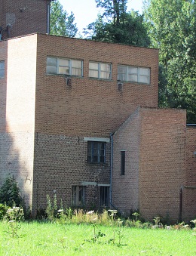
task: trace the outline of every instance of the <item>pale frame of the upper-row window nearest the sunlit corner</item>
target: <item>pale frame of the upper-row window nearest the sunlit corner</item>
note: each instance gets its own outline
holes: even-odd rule
[[[49,75],[62,75],[62,76],[75,76],[72,74],[72,69],[80,69],[81,70],[81,76],[78,77],[82,77],[83,76],[83,60],[75,60],[75,59],[67,59],[67,58],[60,58],[60,57],[47,57],[48,59],[56,59],[57,60],[57,66],[56,66],[56,72],[47,72],[47,65],[46,65],[46,72]],[[64,74],[64,73],[60,73],[59,72],[59,67],[60,67],[60,60],[68,60],[69,64],[68,64],[68,68],[69,68],[69,74]],[[72,66],[72,61],[79,61],[81,62],[81,68],[75,68]]]

